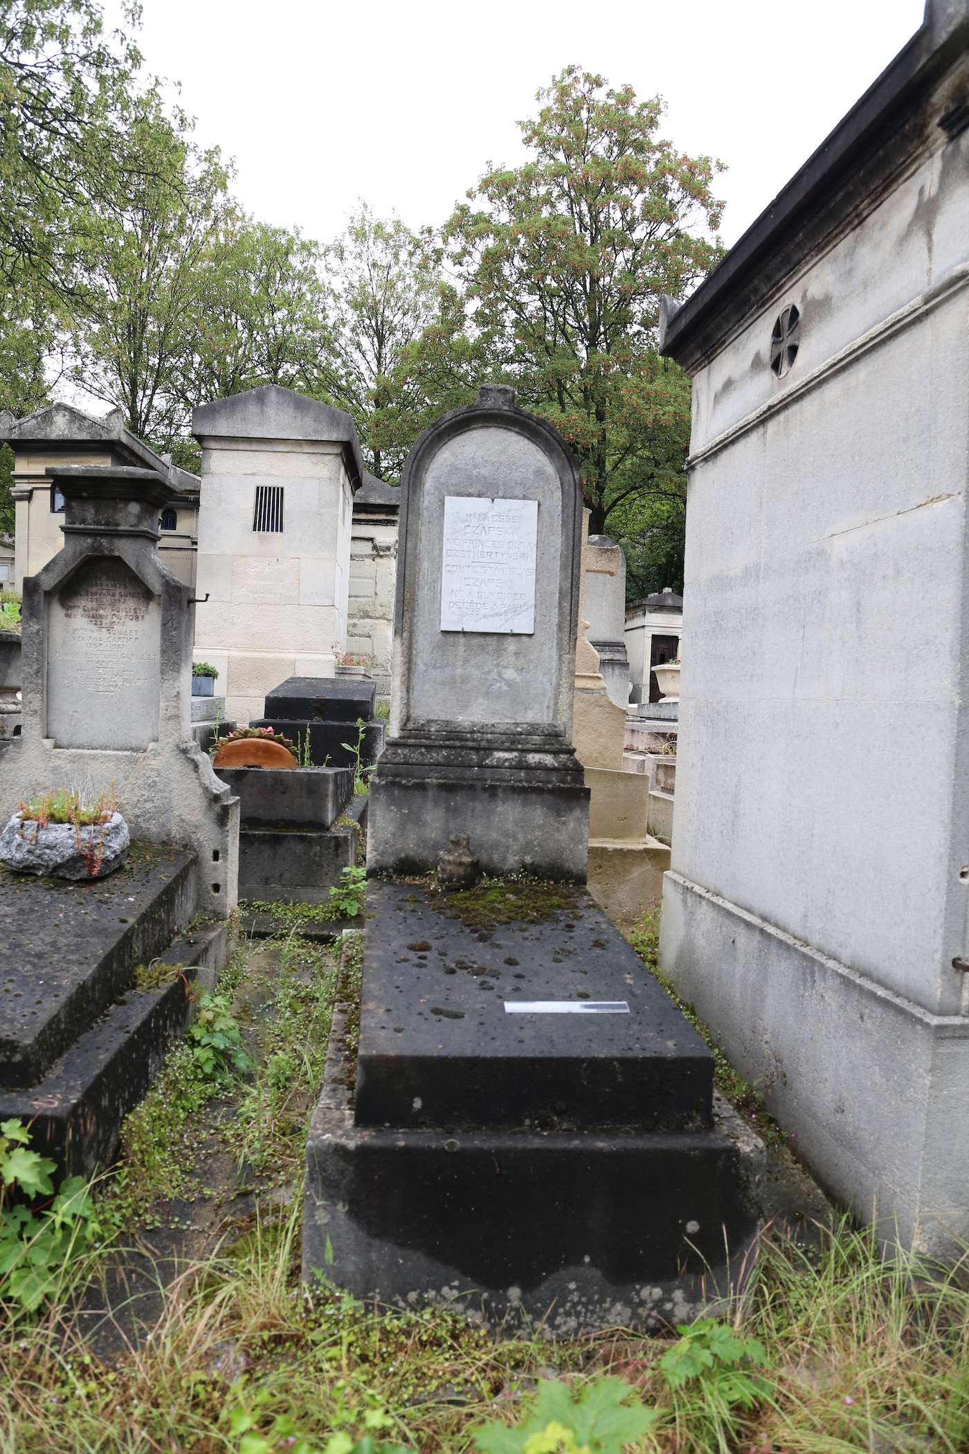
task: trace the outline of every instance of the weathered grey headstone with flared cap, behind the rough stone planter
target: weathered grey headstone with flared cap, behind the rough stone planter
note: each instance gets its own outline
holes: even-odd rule
[[[199,901],[235,904],[238,798],[190,740],[192,587],[158,558],[174,487],[154,470],[60,465],[64,548],[23,582],[23,726],[0,814],[51,787],[113,784],[131,836],[190,848]]]

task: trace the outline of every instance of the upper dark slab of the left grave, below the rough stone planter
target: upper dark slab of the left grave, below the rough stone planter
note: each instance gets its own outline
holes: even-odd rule
[[[41,1080],[195,910],[195,853],[155,843],[92,883],[0,869],[0,1088]]]

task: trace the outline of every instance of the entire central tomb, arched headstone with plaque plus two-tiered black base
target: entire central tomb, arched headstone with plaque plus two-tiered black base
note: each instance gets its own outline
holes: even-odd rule
[[[307,1138],[304,1269],[561,1333],[687,1317],[750,1246],[763,1147],[584,887],[575,461],[492,385],[418,439],[402,494],[394,736],[360,984]],[[433,887],[392,877],[442,849]],[[474,887],[474,859],[504,884]]]

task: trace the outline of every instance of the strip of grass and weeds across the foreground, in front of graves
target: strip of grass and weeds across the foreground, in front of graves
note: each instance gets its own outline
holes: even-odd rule
[[[957,1454],[969,1439],[969,1268],[885,1261],[844,1224],[814,1255],[769,1229],[722,1319],[562,1342],[304,1287],[298,1250],[295,1198],[186,1269],[150,1336],[109,1361],[70,1307],[28,1336],[10,1326],[4,1447],[349,1454],[369,1435],[421,1454]]]

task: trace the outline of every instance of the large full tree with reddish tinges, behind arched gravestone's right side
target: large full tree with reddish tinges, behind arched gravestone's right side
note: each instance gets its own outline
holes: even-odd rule
[[[488,172],[445,241],[479,356],[569,441],[601,534],[625,500],[683,490],[690,390],[657,355],[658,304],[719,256],[719,164],[657,135],[660,97],[575,65],[538,99],[532,158]]]

